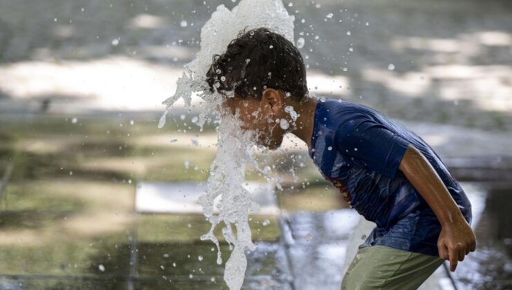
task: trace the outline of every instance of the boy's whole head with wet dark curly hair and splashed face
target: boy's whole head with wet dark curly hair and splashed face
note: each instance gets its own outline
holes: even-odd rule
[[[243,128],[257,133],[258,144],[272,149],[293,128],[286,128],[292,121],[286,106],[298,108],[309,95],[300,52],[267,28],[239,32],[225,53],[213,56],[206,81],[212,93],[234,95],[226,97],[223,106],[239,113]]]

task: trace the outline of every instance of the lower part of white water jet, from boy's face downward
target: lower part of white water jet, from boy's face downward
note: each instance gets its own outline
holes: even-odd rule
[[[212,240],[217,244],[217,264],[221,264],[222,260],[219,242],[213,231],[220,222],[226,224],[222,229],[222,235],[226,238],[232,253],[226,262],[224,280],[230,289],[240,289],[244,282],[247,267],[244,251],[256,249],[251,239],[248,215],[259,211],[258,204],[251,200],[248,191],[242,186],[244,184],[244,165],[254,162],[253,137],[250,132],[240,132],[237,126],[227,126],[227,124],[236,124],[237,122],[237,117],[229,115],[222,117],[217,131],[219,134],[217,157],[210,166],[207,191],[199,197],[199,204],[203,206],[204,215],[212,223],[210,231],[202,235],[201,240]],[[223,140],[229,140],[229,142],[223,142]],[[219,195],[221,195],[221,200],[217,204],[219,215],[213,215],[213,202]],[[231,224],[235,224],[236,238],[233,235]]]

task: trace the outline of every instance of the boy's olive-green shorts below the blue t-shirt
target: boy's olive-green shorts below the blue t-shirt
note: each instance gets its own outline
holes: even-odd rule
[[[443,260],[385,246],[359,249],[341,289],[417,289]]]

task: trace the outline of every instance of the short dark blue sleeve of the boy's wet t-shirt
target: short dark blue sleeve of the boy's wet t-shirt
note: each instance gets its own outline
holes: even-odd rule
[[[354,117],[336,130],[338,150],[368,168],[394,178],[410,142],[367,116]]]

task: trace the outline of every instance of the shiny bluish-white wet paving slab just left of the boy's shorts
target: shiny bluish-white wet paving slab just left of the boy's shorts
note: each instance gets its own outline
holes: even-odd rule
[[[339,289],[349,237],[358,220],[350,209],[304,211],[284,218],[295,289]]]

